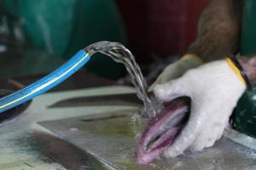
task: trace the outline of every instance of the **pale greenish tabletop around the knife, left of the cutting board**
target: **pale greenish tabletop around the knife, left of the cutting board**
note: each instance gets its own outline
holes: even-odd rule
[[[134,92],[131,88],[87,88],[38,96],[32,105],[15,121],[0,127],[1,170],[62,170],[106,169],[102,163],[67,141],[38,125],[38,122],[67,117],[102,114],[105,111],[123,111],[131,106],[86,106],[49,109],[48,105],[78,96]]]

